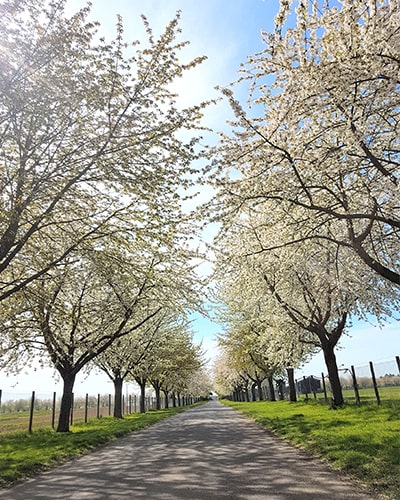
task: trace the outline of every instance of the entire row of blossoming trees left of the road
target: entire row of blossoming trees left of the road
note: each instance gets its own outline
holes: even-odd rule
[[[179,390],[199,368],[193,224],[201,111],[179,108],[179,15],[144,48],[65,0],[0,3],[0,366],[50,362],[69,430],[76,375]],[[119,405],[119,408],[118,408]]]

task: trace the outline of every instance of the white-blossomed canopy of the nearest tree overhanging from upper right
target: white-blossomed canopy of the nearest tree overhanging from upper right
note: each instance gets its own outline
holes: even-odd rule
[[[280,210],[292,228],[285,244],[333,241],[396,285],[398,9],[390,1],[299,2],[296,26],[280,17],[280,29],[263,34],[265,49],[242,67],[251,109],[224,91],[237,129],[220,148],[220,164],[237,173],[226,187],[231,212]]]

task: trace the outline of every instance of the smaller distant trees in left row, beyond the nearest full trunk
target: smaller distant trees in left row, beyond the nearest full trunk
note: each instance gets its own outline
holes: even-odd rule
[[[161,408],[161,393],[168,407],[169,398],[182,394],[207,396],[211,381],[203,367],[201,346],[194,345],[188,325],[165,317],[114,343],[94,360],[114,384],[114,416],[122,417],[124,381],[140,388],[140,411],[145,412],[146,388],[155,393],[156,408]]]

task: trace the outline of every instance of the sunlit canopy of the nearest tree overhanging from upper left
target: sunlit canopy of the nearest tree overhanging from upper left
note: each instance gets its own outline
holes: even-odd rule
[[[65,1],[4,0],[0,12],[4,300],[121,223],[168,234],[197,155],[198,134],[178,132],[201,128],[203,105],[180,109],[171,90],[202,61],[179,62],[179,15],[158,39],[144,19],[140,48],[121,19],[99,38],[89,7],[67,17]]]

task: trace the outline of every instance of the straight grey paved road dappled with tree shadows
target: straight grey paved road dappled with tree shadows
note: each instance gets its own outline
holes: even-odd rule
[[[216,401],[0,491],[9,500],[374,498]]]

